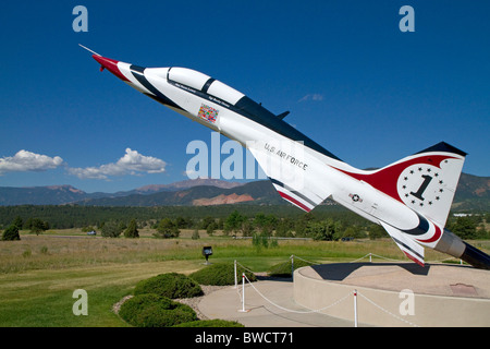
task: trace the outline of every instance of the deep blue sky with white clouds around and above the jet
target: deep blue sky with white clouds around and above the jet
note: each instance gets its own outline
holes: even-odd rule
[[[406,4],[413,33],[399,28]],[[75,5],[87,33],[72,28]],[[0,186],[170,183],[186,179],[191,141],[210,145],[210,130],[100,73],[78,44],[201,71],[290,110],[287,122],[358,168],[445,141],[469,154],[465,172],[490,176],[489,13],[486,0],[4,1]]]

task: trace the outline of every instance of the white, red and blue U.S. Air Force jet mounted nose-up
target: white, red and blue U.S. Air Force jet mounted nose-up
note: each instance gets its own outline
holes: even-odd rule
[[[424,246],[490,269],[490,256],[444,229],[466,153],[441,142],[377,170],[359,170],[241,92],[186,68],[93,58],[131,87],[248,148],[279,194],[309,212],[331,197],[381,225],[424,265]]]

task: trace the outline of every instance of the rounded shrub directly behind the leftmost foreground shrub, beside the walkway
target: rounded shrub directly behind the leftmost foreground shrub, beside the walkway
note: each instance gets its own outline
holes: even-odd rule
[[[203,296],[203,289],[189,277],[177,274],[160,274],[136,284],[134,294],[155,293],[171,299]]]

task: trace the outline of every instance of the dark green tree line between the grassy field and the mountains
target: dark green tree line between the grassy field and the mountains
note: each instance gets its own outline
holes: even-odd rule
[[[37,206],[15,206],[21,212],[29,210]],[[39,209],[40,208],[40,209]],[[75,209],[74,209],[75,208]],[[120,237],[124,234],[126,238],[138,238],[138,229],[151,228],[155,230],[156,238],[177,238],[182,229],[206,230],[209,236],[216,231],[222,231],[225,236],[242,237],[260,237],[262,239],[271,237],[289,237],[289,238],[310,238],[314,240],[340,240],[370,238],[377,239],[388,237],[384,229],[371,224],[370,221],[347,210],[328,210],[319,209],[315,213],[302,213],[295,209],[295,215],[289,214],[287,209],[278,213],[274,209],[267,210],[262,207],[262,212],[249,209],[250,206],[242,206],[240,209],[234,205],[228,205],[226,209],[210,207],[201,210],[199,216],[194,209],[196,207],[58,207],[41,206],[36,212],[37,217],[15,216],[10,222],[2,225],[4,227],[5,240],[15,240],[19,230],[27,229],[30,232],[39,233],[50,228],[56,229],[63,226],[64,217],[60,220],[60,216],[53,215],[57,209],[61,213],[77,210],[81,208],[83,213],[98,213],[95,217],[84,217],[79,220],[83,231],[95,230],[97,227],[102,237]],[[232,210],[230,210],[232,208]],[[266,207],[267,208],[267,207]],[[95,210],[93,210],[95,209]],[[0,208],[1,210],[1,208]],[[112,212],[112,214],[109,214]],[[142,214],[137,216],[137,214]],[[185,216],[184,214],[189,214]],[[192,213],[192,214],[191,214]],[[217,214],[218,213],[218,214]],[[30,212],[29,214],[33,214]],[[130,216],[133,214],[133,216]],[[73,217],[68,215],[69,217]],[[2,217],[2,216],[0,216]],[[41,217],[41,218],[39,218]],[[54,221],[45,220],[46,217],[52,217]],[[57,219],[58,217],[58,219]],[[75,216],[76,217],[76,216]],[[490,232],[486,229],[487,215],[471,215],[463,217],[450,217],[446,227],[463,239],[490,239]],[[70,228],[75,227],[73,224]],[[63,228],[65,228],[63,226]],[[12,238],[13,237],[13,238]]]

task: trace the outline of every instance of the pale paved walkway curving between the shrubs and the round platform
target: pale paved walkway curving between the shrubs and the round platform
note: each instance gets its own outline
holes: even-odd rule
[[[211,292],[203,298],[198,308],[209,318],[236,321],[246,327],[354,326],[354,320],[345,321],[310,312],[296,304],[291,279],[262,279],[253,286],[245,284],[246,312],[242,312],[242,285]]]

